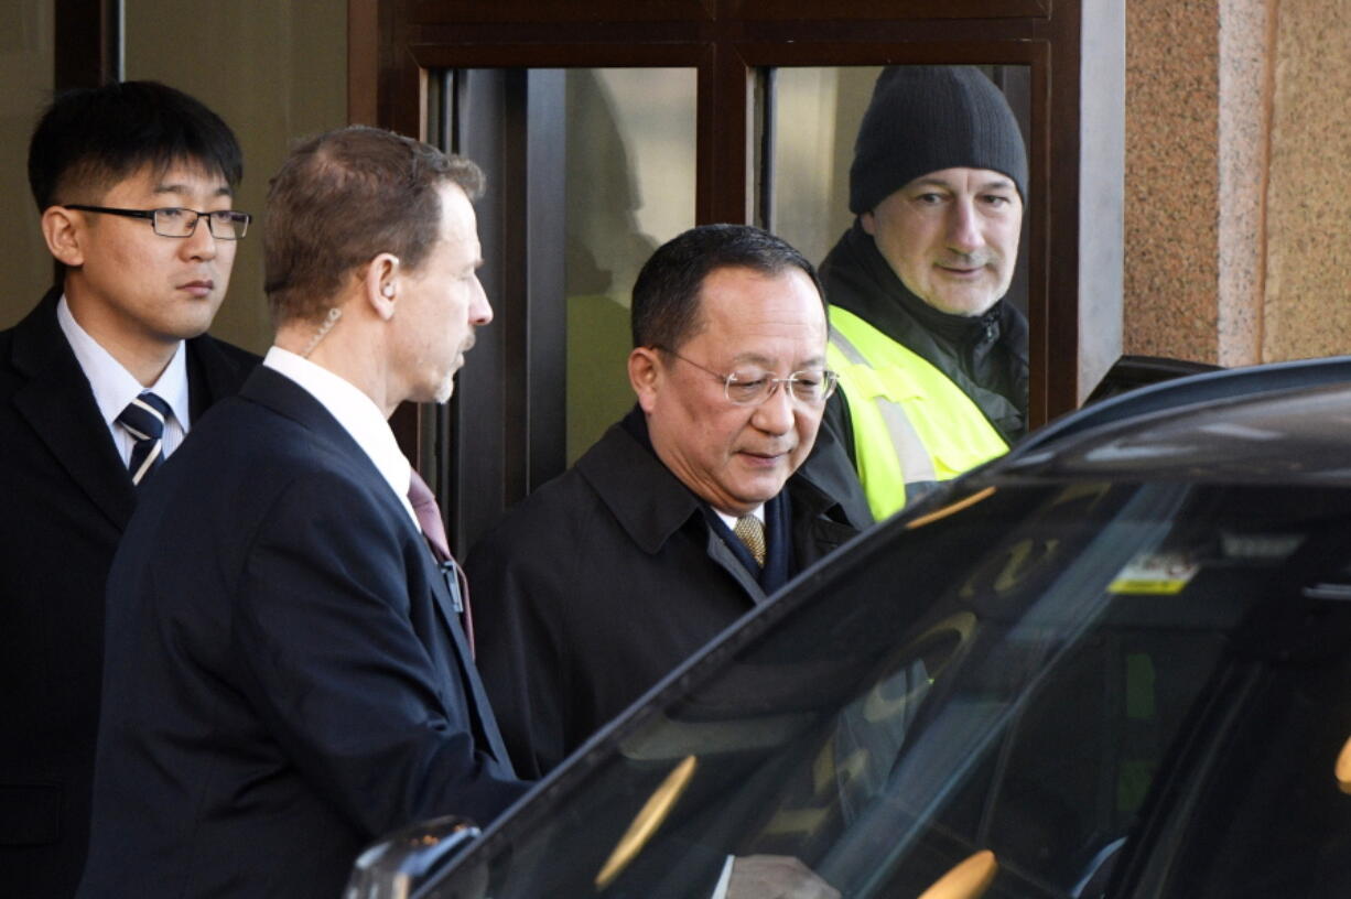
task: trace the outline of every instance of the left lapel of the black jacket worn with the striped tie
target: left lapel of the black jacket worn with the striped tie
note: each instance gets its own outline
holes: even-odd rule
[[[28,382],[14,405],[70,479],[123,529],[136,495],[61,325],[53,290],[14,331],[14,364]]]

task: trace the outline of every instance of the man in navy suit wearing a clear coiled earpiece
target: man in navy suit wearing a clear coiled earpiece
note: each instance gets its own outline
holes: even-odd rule
[[[449,400],[492,319],[481,180],[361,127],[273,178],[276,344],[157,474],[108,579],[82,896],[338,896],[376,837],[524,792],[386,424]]]

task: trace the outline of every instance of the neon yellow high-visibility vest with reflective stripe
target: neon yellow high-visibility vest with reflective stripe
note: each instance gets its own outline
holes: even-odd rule
[[[831,308],[827,364],[854,423],[858,478],[881,521],[939,481],[1008,451],[979,406],[924,358]]]

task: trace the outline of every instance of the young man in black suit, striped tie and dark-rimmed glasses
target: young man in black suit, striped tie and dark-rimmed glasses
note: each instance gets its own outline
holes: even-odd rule
[[[242,171],[226,123],[153,82],[62,94],[32,135],[30,184],[63,277],[0,332],[4,895],[70,896],[80,881],[112,553],[136,485],[257,363],[204,333],[249,224],[231,211]]]

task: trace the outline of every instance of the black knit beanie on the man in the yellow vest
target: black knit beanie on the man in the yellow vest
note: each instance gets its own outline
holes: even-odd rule
[[[848,208],[861,215],[915,178],[990,169],[1027,200],[1027,150],[1013,111],[974,66],[888,66],[854,142]]]

